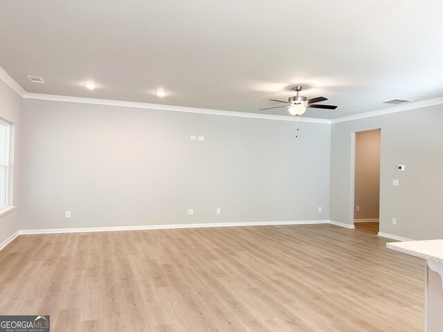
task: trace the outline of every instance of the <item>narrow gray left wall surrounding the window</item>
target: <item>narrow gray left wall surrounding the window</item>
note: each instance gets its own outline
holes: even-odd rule
[[[14,205],[19,205],[20,114],[21,97],[0,80],[0,118],[12,122],[15,129],[13,160],[11,163],[14,176],[12,181],[12,204]],[[8,214],[0,216],[0,244],[17,232],[17,230],[19,230],[19,207]]]

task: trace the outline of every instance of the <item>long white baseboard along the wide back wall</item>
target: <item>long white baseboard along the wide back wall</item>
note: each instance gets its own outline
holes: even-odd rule
[[[53,234],[79,232],[115,232],[122,230],[170,230],[174,228],[210,228],[210,227],[242,227],[242,226],[269,226],[269,225],[309,225],[329,223],[329,220],[307,221],[258,221],[244,223],[176,223],[170,225],[141,225],[118,227],[88,227],[88,228],[54,228],[43,230],[20,230],[20,234]]]

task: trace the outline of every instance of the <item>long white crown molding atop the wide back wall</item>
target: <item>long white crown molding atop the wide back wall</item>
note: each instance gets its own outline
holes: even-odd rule
[[[331,123],[329,119],[316,119],[316,118],[295,118],[291,116],[274,116],[272,114],[259,114],[259,113],[248,113],[248,112],[237,112],[237,111],[223,111],[219,109],[200,109],[197,107],[185,107],[185,106],[174,106],[174,105],[164,105],[164,104],[149,104],[146,102],[127,102],[124,100],[109,100],[109,99],[98,99],[98,98],[84,98],[84,97],[71,97],[68,95],[47,95],[44,93],[25,93],[24,97],[26,99],[34,100],[50,100],[53,102],[75,102],[80,104],[96,104],[96,105],[107,105],[107,106],[118,106],[118,107],[134,107],[138,109],[156,109],[161,111],[176,111],[185,113],[199,113],[199,114],[210,114],[213,116],[235,116],[237,118],[254,118],[254,119],[264,119],[264,120],[280,120],[280,121],[298,121],[298,122],[316,122],[316,123]]]

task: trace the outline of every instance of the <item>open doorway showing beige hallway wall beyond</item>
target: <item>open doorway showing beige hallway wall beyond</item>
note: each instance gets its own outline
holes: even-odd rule
[[[354,227],[377,234],[380,217],[381,129],[355,133]]]

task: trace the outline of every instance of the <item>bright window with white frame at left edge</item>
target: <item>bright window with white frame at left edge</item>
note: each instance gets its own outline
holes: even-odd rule
[[[8,205],[10,124],[0,120],[0,208]]]

